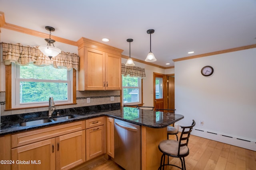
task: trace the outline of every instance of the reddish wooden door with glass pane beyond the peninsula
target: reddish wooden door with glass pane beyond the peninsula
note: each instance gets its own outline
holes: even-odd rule
[[[155,109],[164,108],[164,89],[165,89],[165,76],[164,74],[153,73],[154,85],[154,107]]]

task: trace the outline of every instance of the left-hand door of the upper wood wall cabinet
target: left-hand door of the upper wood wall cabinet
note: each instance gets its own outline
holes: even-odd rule
[[[105,52],[84,49],[85,90],[105,90]]]

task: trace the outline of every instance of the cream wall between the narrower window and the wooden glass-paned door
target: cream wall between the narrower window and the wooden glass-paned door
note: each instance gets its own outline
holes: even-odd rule
[[[127,59],[122,58],[122,63],[126,63]],[[174,69],[162,69],[144,63],[134,62],[135,66],[145,68],[146,78],[143,78],[143,106],[154,106],[153,96],[153,72],[160,74],[174,74]]]

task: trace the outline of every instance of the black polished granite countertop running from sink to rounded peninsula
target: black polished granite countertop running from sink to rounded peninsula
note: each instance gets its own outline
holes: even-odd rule
[[[38,119],[54,119],[55,117],[62,117],[65,115],[73,115],[74,118],[61,120],[61,121],[51,121],[48,123],[43,123],[40,125],[31,125],[31,126],[20,126],[20,123],[24,121],[32,121]],[[60,125],[63,123],[69,123],[74,121],[81,121],[85,119],[91,119],[94,117],[100,116],[109,116],[115,119],[120,119],[137,125],[142,125],[151,128],[164,128],[168,125],[183,119],[184,116],[174,113],[163,113],[162,111],[152,111],[146,109],[137,109],[133,107],[119,107],[112,109],[99,109],[98,111],[65,111],[60,113],[60,116],[53,115],[48,117],[47,115],[42,114],[37,117],[38,114],[29,114],[23,115],[23,119],[19,119],[17,116],[14,121],[5,121],[0,127],[0,136],[18,133],[23,131],[28,131],[32,129],[39,129],[42,127],[50,127],[52,125]],[[5,117],[6,119],[6,117]]]

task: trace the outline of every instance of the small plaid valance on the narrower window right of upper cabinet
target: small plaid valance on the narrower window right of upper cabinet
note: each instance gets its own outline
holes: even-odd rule
[[[131,77],[146,77],[145,69],[137,66],[126,66],[122,63],[122,75]]]

